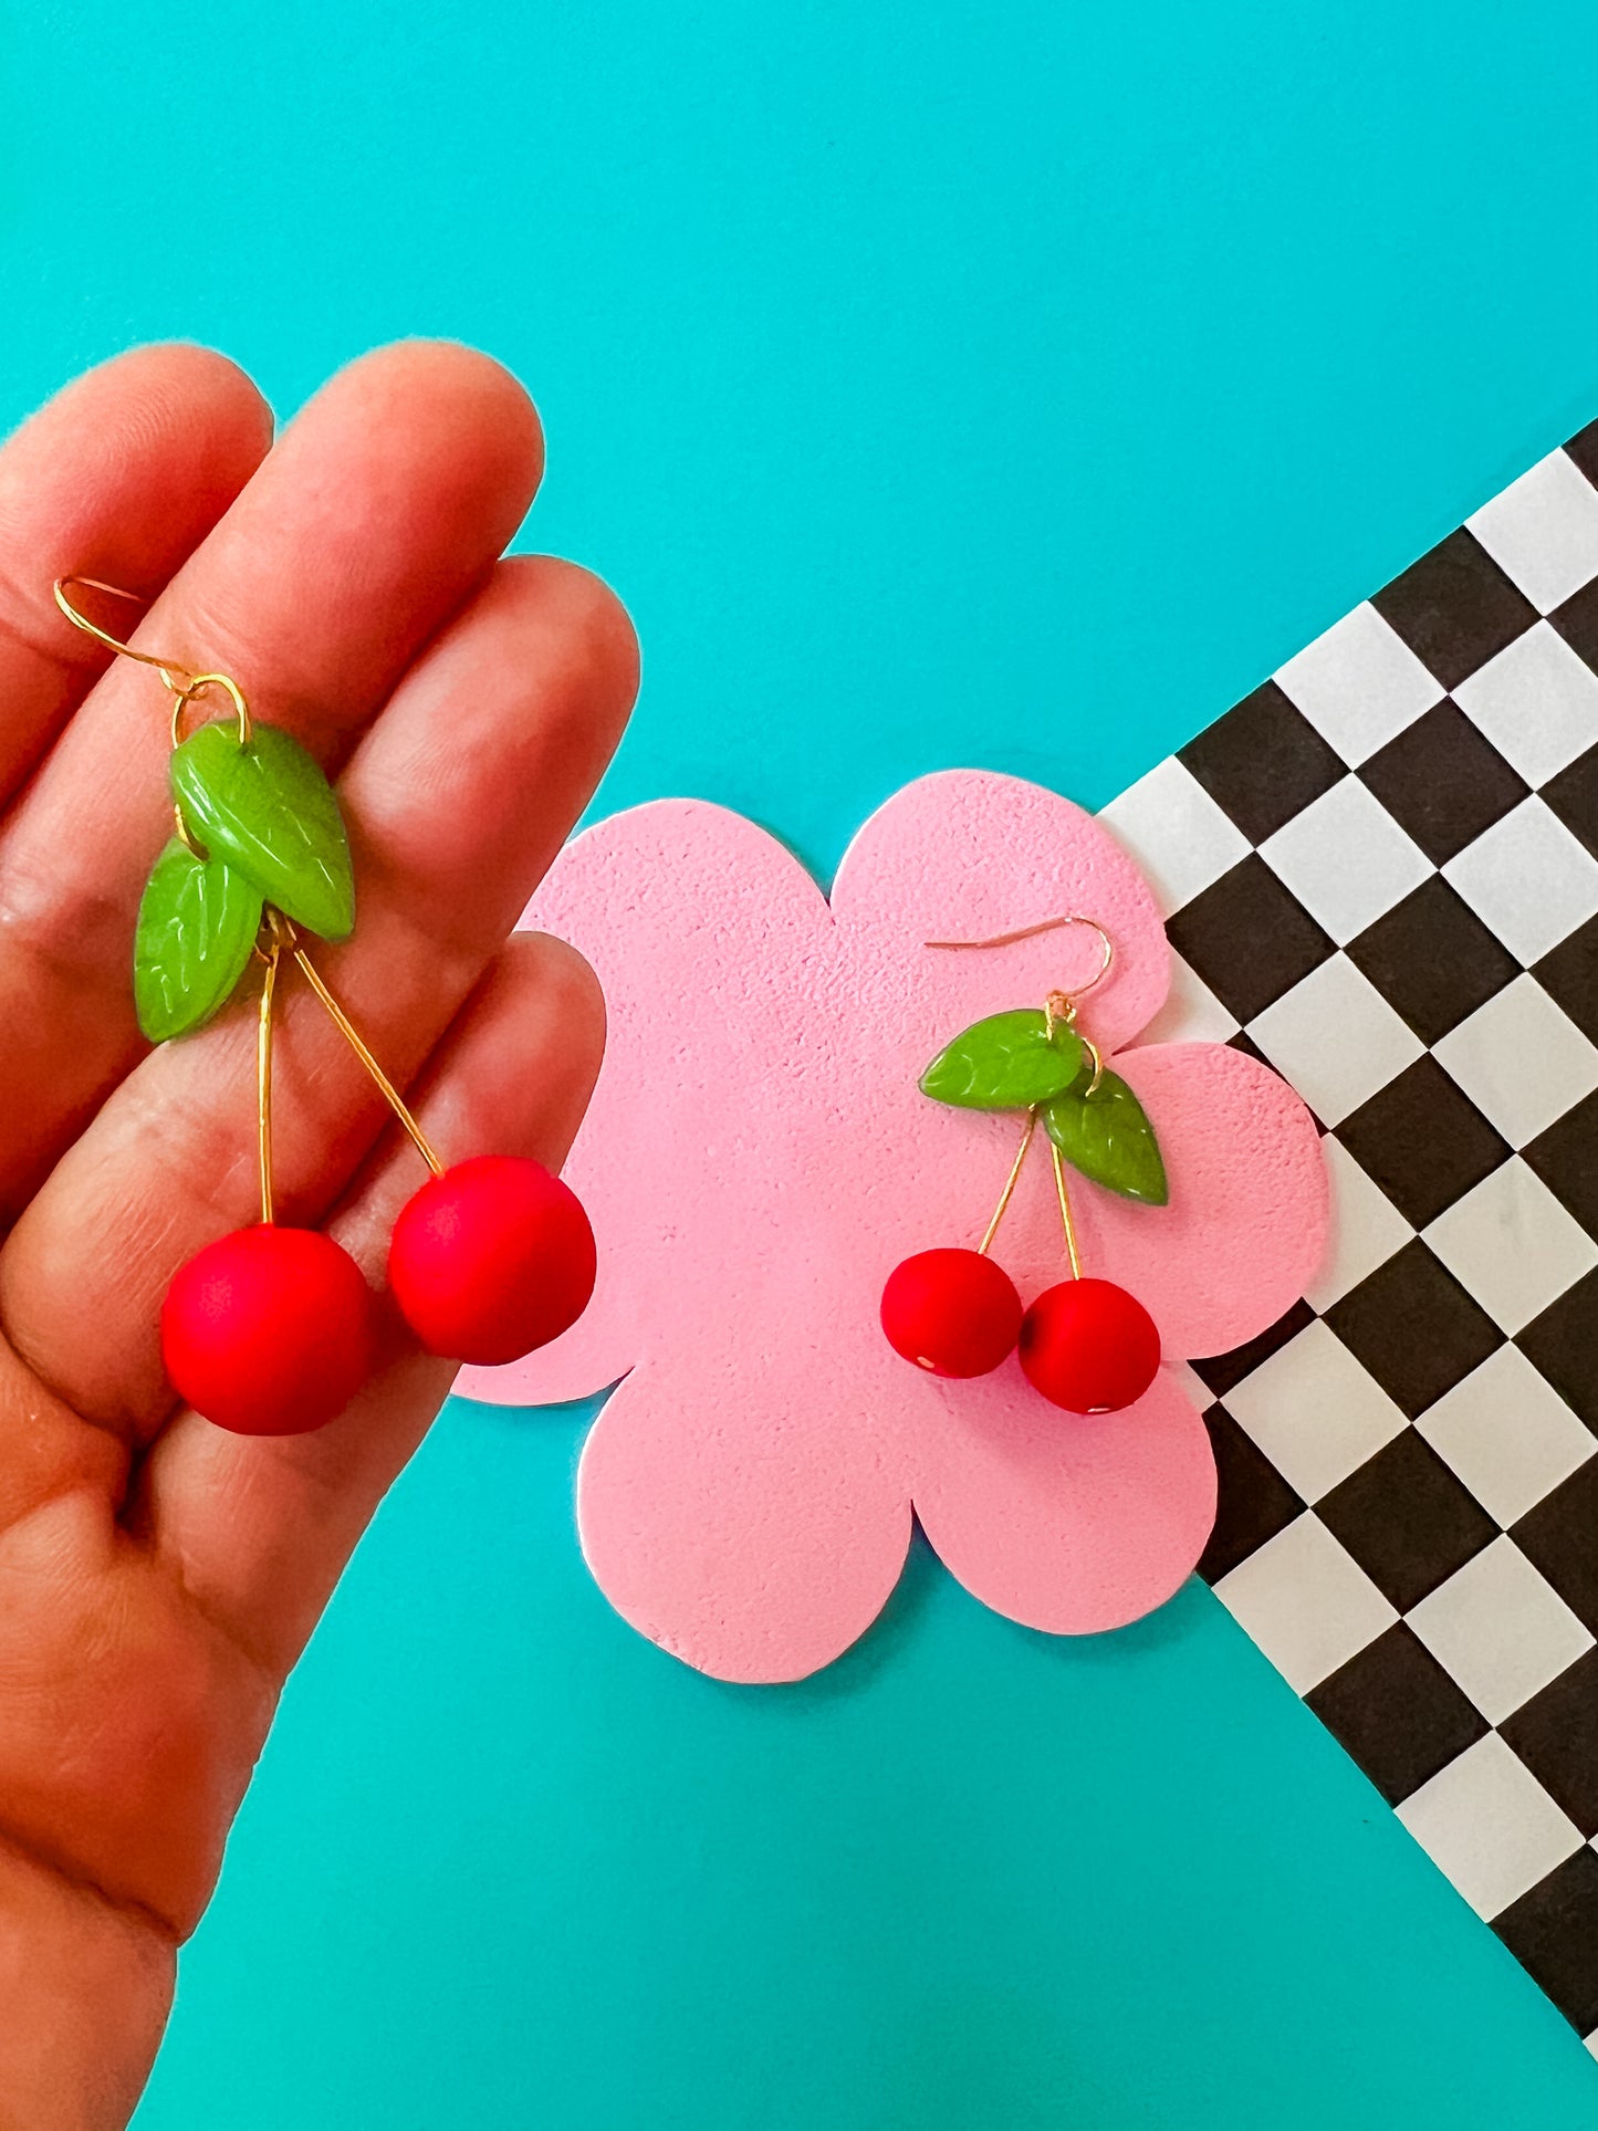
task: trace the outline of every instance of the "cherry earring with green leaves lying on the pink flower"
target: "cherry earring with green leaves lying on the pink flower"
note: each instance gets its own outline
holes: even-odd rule
[[[933,1377],[986,1377],[1012,1351],[1033,1389],[1067,1413],[1131,1406],[1159,1370],[1159,1330],[1136,1296],[1082,1272],[1065,1168],[1144,1206],[1170,1200],[1155,1127],[1127,1083],[1106,1070],[1076,1027],[1080,999],[1114,961],[1095,918],[1067,914],[993,940],[929,940],[933,948],[989,948],[1061,925],[1099,936],[1099,967],[1076,993],[1050,991],[1042,1008],[989,1014],[946,1044],[920,1091],[959,1110],[1025,1110],[1021,1149],[982,1242],[918,1251],[882,1289],[882,1330],[895,1353]],[[1016,1283],[989,1255],[1014,1195],[1038,1123],[1048,1136],[1070,1279],[1023,1308]]]

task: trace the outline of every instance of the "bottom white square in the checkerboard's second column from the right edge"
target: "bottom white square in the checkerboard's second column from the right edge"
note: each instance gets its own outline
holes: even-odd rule
[[[1229,1568],[1214,1596],[1298,1694],[1308,1694],[1398,1620],[1315,1511]]]

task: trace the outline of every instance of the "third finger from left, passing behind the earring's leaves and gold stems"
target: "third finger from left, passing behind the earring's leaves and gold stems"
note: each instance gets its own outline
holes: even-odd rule
[[[582,812],[635,680],[631,627],[594,578],[503,563],[349,765],[360,912],[349,944],[317,948],[315,963],[398,1085]],[[317,1221],[388,1112],[296,972],[279,995],[277,1213]],[[166,1285],[254,1219],[256,1019],[237,1002],[147,1057],[55,1166],[0,1251],[0,1325],[60,1398],[143,1441],[173,1396],[158,1338]]]

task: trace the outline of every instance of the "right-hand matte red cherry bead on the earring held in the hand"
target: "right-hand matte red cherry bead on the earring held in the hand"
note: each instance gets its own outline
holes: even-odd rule
[[[588,1308],[594,1232],[541,1161],[475,1155],[405,1204],[388,1285],[428,1353],[479,1368],[518,1362]]]

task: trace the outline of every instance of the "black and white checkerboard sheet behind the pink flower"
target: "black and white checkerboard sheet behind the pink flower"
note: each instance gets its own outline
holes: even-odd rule
[[[1598,424],[1104,818],[1334,1183],[1200,1571],[1598,2054]]]

